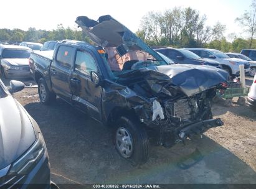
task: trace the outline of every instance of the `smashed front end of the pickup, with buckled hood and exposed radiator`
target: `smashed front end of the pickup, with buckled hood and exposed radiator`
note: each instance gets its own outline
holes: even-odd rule
[[[161,73],[164,68],[167,69],[165,66],[158,67],[158,71],[141,69],[120,76],[125,78],[120,81],[123,85],[148,99],[133,109],[149,131],[153,131],[157,144],[171,147],[194,134],[223,125],[220,119],[212,119],[211,112],[216,88],[222,88],[221,83],[226,81],[222,71],[208,70],[211,73],[206,71],[202,75],[203,71],[196,68],[175,71],[174,67],[168,76],[167,72]],[[201,76],[204,80],[200,80]]]

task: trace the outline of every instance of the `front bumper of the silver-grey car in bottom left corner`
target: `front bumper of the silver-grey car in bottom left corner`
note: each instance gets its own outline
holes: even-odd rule
[[[10,178],[4,176],[1,178],[0,186],[3,188],[50,188],[50,165],[47,152],[44,153],[37,165],[27,175],[16,175],[11,181],[4,180],[4,178]],[[4,184],[6,183],[6,184]],[[1,188],[0,187],[0,188]]]

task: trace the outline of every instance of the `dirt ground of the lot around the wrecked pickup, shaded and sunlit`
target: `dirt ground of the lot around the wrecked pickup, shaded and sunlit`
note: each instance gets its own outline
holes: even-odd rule
[[[44,134],[56,183],[256,183],[256,113],[247,105],[215,104],[224,126],[171,149],[152,147],[147,164],[135,168],[118,156],[107,127],[61,99],[45,106],[36,88],[14,96]],[[197,163],[180,166],[191,159]]]

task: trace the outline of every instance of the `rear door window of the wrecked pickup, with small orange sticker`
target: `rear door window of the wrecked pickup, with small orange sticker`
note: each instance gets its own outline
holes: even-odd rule
[[[62,45],[59,47],[56,60],[57,62],[67,68],[72,65],[73,47]]]

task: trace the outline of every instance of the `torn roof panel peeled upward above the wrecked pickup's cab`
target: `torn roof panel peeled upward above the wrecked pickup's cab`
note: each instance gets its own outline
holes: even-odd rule
[[[143,40],[110,15],[100,16],[98,21],[86,16],[78,16],[75,22],[95,44],[102,47],[116,47],[120,56],[125,55],[129,50],[143,50],[156,58],[159,57],[158,53],[148,47]]]

